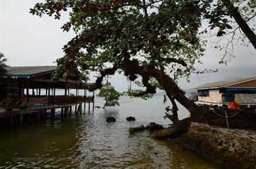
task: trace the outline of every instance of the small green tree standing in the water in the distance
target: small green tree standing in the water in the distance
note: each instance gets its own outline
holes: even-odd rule
[[[114,90],[114,87],[111,86],[110,82],[107,82],[102,86],[98,96],[105,100],[103,108],[105,108],[105,106],[120,106],[118,101],[122,94]]]

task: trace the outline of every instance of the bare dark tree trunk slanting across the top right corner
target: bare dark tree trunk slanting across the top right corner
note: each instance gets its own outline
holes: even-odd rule
[[[230,0],[221,0],[223,4],[227,7],[230,15],[236,20],[238,26],[242,29],[242,32],[249,38],[251,44],[253,44],[254,48],[256,49],[256,35],[248,26],[247,22],[244,21],[242,16],[240,15],[238,9],[234,7]]]

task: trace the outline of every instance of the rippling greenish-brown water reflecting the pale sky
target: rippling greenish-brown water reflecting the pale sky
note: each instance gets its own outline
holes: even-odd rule
[[[129,135],[129,127],[151,121],[168,125],[163,120],[165,106],[159,97],[123,100],[120,108],[57,115],[41,124],[2,130],[0,168],[219,168],[168,140],[151,139],[147,132]],[[106,123],[107,116],[114,116],[116,123]],[[127,122],[127,116],[136,121]]]

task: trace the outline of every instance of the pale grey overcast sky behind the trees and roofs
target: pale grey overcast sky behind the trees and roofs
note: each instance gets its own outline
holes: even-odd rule
[[[56,65],[62,57],[62,46],[73,36],[73,32],[62,32],[60,27],[68,20],[68,13],[61,20],[47,15],[39,18],[28,13],[38,0],[0,0],[0,53],[7,57],[10,66]],[[192,75],[190,83],[179,81],[184,89],[194,88],[214,81],[256,76],[256,53],[253,46],[235,45],[234,55],[228,66],[219,65],[221,53],[209,45],[202,58],[200,69],[216,69],[217,73]],[[115,75],[112,83],[119,91],[127,89],[126,77]]]

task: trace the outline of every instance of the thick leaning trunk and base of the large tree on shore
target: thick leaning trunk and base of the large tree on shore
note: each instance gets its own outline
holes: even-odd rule
[[[163,86],[167,96],[173,104],[173,115],[170,116],[167,114],[167,117],[173,121],[173,125],[167,129],[154,133],[151,137],[154,139],[168,139],[186,133],[190,128],[190,121],[199,121],[199,116],[202,113],[202,109],[198,105],[194,104],[194,102],[189,100],[185,96],[185,92],[181,90],[175,81],[173,81],[169,75],[165,74],[164,71],[152,69],[151,75],[155,77],[159,83],[161,83],[161,86]],[[178,108],[175,100],[177,100],[177,102],[182,104],[182,106],[184,106],[190,112],[189,118],[179,121],[177,115]]]

